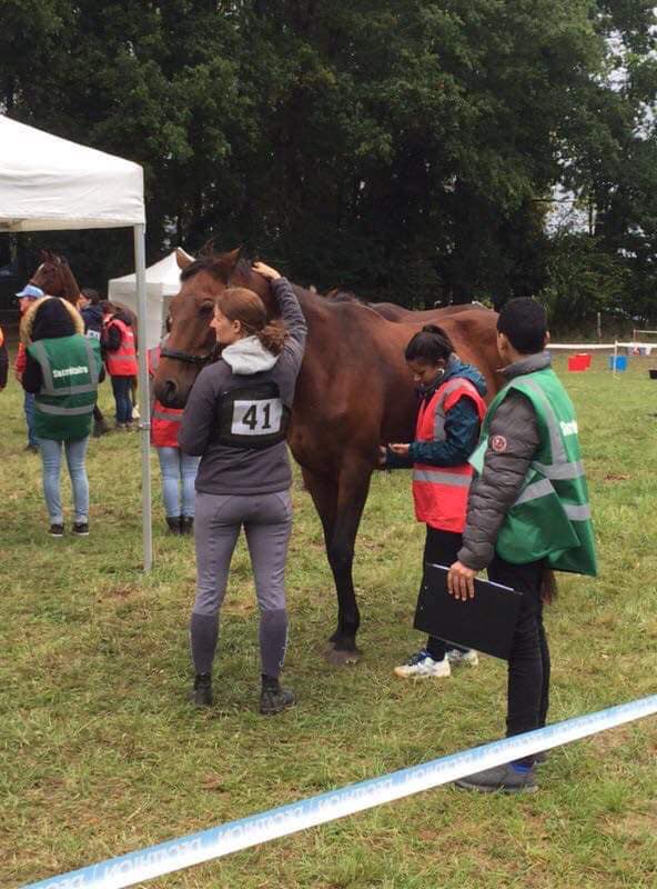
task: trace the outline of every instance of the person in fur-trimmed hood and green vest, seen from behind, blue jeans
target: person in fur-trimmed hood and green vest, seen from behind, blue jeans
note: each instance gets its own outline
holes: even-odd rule
[[[43,493],[51,537],[64,533],[60,496],[62,449],[73,490],[73,533],[89,533],[89,480],[84,466],[99,381],[100,342],[83,336],[84,322],[63,299],[44,297],[26,313],[21,340],[26,392],[34,394],[34,433],[43,466]]]

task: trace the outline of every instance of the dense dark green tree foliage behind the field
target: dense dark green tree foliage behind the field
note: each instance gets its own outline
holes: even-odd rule
[[[143,163],[152,259],[215,237],[407,304],[649,309],[650,2],[4,0],[2,19],[0,102]],[[557,183],[583,229],[546,224]],[[82,277],[130,266],[117,233],[65,237]]]

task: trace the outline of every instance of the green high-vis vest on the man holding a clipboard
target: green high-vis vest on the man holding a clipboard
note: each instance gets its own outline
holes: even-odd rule
[[[595,577],[596,549],[577,420],[570,399],[552,369],[517,377],[497,393],[484,418],[482,438],[471,463],[482,472],[491,420],[513,390],[532,402],[540,444],[502,525],[495,549],[514,565],[547,559],[557,571]]]

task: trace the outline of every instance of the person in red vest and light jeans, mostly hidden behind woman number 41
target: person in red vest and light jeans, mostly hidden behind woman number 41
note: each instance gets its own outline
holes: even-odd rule
[[[166,329],[169,330],[169,323]],[[160,363],[160,346],[148,351],[149,376],[155,376]],[[165,408],[154,393],[151,396],[151,444],[158,451],[162,473],[162,500],[166,525],[172,535],[194,531],[195,481],[200,457],[183,453],[178,433],[184,410]]]

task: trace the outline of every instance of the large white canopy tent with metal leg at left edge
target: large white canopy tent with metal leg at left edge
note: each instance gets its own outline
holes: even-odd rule
[[[143,170],[131,161],[0,116],[0,232],[131,227],[134,231],[137,306],[146,328]],[[148,391],[145,349],[139,384]],[[143,562],[153,561],[149,399],[142,399]]]

